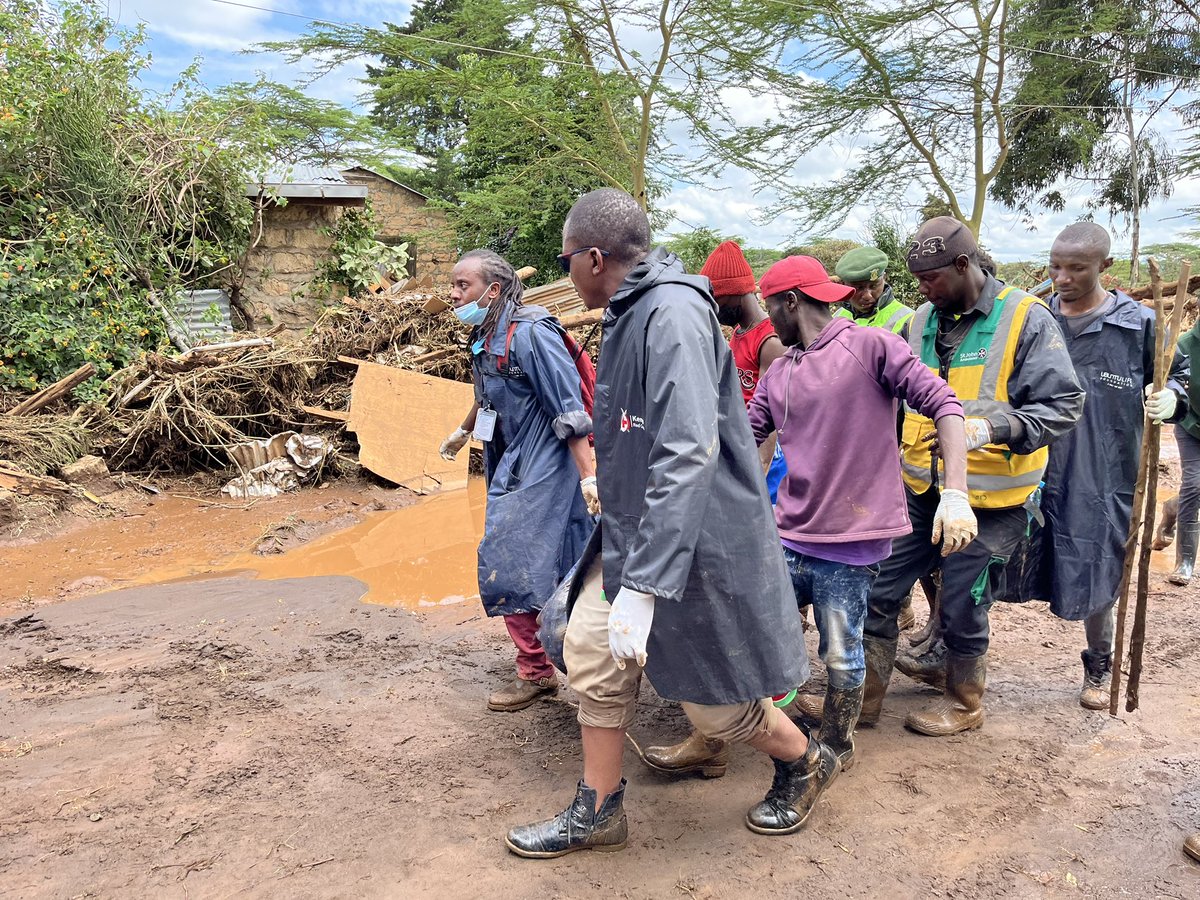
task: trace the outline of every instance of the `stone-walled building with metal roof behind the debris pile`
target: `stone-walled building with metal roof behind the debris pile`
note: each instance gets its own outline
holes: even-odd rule
[[[409,275],[431,276],[449,287],[457,250],[445,212],[428,209],[428,198],[370,169],[296,167],[287,178],[248,185],[252,198],[265,200],[262,235],[246,254],[244,278],[232,299],[253,330],[282,325],[286,335],[307,330],[329,302],[312,287],[332,246],[330,230],[347,210],[362,208],[370,198],[376,212],[377,238],[385,244],[409,245]]]

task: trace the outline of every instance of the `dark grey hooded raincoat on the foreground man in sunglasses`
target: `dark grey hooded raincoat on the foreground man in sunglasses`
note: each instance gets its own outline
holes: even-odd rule
[[[737,367],[707,278],[655,250],[604,319],[596,373],[604,586],[653,594],[646,672],[707,706],[809,677]]]

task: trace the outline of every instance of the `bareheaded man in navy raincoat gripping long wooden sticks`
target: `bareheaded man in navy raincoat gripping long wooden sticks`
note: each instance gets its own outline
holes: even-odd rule
[[[1103,288],[1100,274],[1110,265],[1108,232],[1094,222],[1068,226],[1050,251],[1056,290],[1050,311],[1062,328],[1087,402],[1075,430],[1050,445],[1039,581],[1055,616],[1084,620],[1087,649],[1081,654],[1079,702],[1087,709],[1109,707],[1112,606],[1145,415],[1160,425],[1187,410],[1183,388],[1175,380],[1186,373],[1182,356],[1176,356],[1166,388],[1151,394],[1154,313],[1127,294]]]

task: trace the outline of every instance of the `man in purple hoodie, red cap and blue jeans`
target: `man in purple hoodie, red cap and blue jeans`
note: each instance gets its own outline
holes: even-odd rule
[[[942,554],[978,530],[966,486],[962,406],[898,335],[834,318],[851,292],[812,257],[787,257],[762,276],[760,292],[787,347],[750,403],[762,443],[776,432],[787,462],[775,524],[796,599],[812,604],[829,672],[818,739],[848,768],[863,706],[863,623],[878,563],[892,539],[912,532],[895,444],[898,401],[934,420],[946,487],[934,523]],[[850,452],[847,452],[850,451]]]

